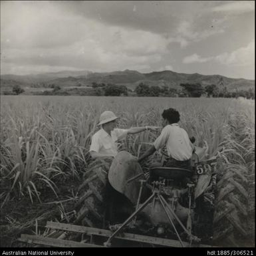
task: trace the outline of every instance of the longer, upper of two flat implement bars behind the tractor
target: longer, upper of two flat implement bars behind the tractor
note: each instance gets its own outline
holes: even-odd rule
[[[47,221],[47,227],[51,229],[61,229],[70,232],[78,232],[78,233],[85,233],[85,234],[92,234],[92,235],[100,235],[102,237],[110,237],[112,232],[106,229],[98,229],[95,227],[84,227],[80,225],[72,225],[72,224],[65,224],[59,222],[52,222]],[[165,239],[160,237],[150,237],[147,235],[136,235],[132,233],[122,233],[121,236],[116,235],[115,239],[123,239],[127,241],[136,241],[140,243],[150,243],[154,245],[162,245],[166,247],[181,247],[180,242],[173,239]],[[189,243],[183,241],[184,245],[187,247]],[[211,247],[210,245],[198,245],[199,247]]]

